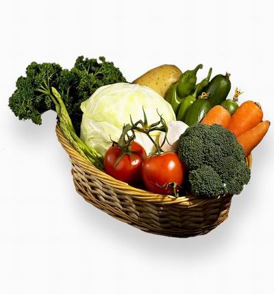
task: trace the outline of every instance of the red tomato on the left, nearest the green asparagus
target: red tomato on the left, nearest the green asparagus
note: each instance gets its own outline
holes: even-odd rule
[[[137,142],[132,142],[131,151],[132,155],[125,154],[115,165],[123,150],[114,144],[108,148],[103,161],[107,174],[130,185],[142,181],[142,162],[147,157],[145,149]]]

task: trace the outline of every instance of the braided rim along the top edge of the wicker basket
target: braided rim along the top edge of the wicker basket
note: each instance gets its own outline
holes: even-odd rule
[[[66,151],[66,153],[71,157],[71,159],[74,159],[75,161],[81,163],[86,170],[92,173],[92,175],[99,178],[99,180],[103,181],[104,183],[107,183],[111,187],[114,187],[117,191],[120,193],[125,193],[127,195],[132,196],[133,198],[136,198],[136,200],[142,200],[145,202],[157,202],[158,204],[178,204],[186,207],[194,207],[201,205],[205,202],[216,202],[216,200],[219,200],[223,197],[232,197],[231,195],[227,194],[225,196],[219,196],[216,198],[197,198],[196,196],[192,196],[191,194],[187,194],[186,196],[180,196],[175,197],[172,195],[161,195],[161,194],[155,194],[149,191],[146,191],[144,189],[132,187],[128,185],[125,182],[116,180],[116,178],[113,178],[112,176],[106,174],[105,172],[99,170],[95,167],[95,165],[92,165],[87,159],[82,157],[82,155],[77,152],[73,146],[71,146],[71,143],[68,142],[66,137],[64,137],[64,134],[60,128],[59,122],[57,122],[55,127],[55,133],[58,137],[58,141]],[[249,165],[249,168],[251,168],[252,165],[252,155],[250,154],[248,157],[246,157],[247,165]]]

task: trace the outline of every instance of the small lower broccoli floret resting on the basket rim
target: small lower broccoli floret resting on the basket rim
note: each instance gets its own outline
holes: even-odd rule
[[[190,191],[197,197],[222,196],[225,185],[219,174],[210,165],[201,165],[189,173]]]

